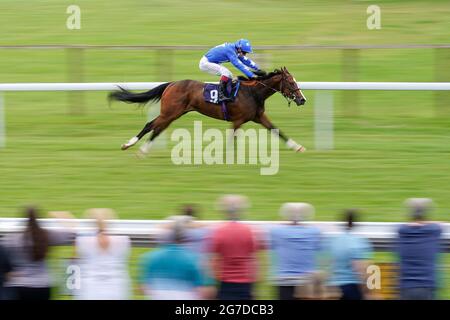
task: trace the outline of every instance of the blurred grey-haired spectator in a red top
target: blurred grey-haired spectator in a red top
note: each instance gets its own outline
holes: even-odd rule
[[[261,249],[257,235],[238,218],[247,207],[247,199],[228,195],[220,199],[221,210],[229,221],[218,226],[211,235],[212,268],[219,282],[219,300],[250,300],[256,281],[257,257]]]

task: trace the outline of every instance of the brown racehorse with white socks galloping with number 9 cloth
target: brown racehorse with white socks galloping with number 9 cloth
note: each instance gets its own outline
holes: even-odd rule
[[[217,105],[205,101],[203,97],[204,83],[195,80],[181,80],[167,82],[149,91],[132,93],[120,88],[109,94],[110,100],[127,103],[145,104],[149,101],[161,100],[160,115],[146,123],[144,128],[135,137],[122,145],[126,150],[135,145],[142,137],[152,131],[150,139],[140,148],[142,154],[149,152],[153,140],[164,131],[173,121],[191,111],[197,111],[208,117],[230,121],[236,131],[244,123],[253,121],[265,128],[277,129],[265,114],[264,103],[274,93],[281,93],[288,103],[294,101],[297,106],[304,105],[306,98],[297,85],[296,80],[289,71],[283,67],[275,69],[267,75],[247,79],[240,76],[240,88],[234,101],[230,101],[223,110]],[[297,152],[306,149],[294,140],[289,139],[279,130],[272,130],[286,142],[288,148]]]

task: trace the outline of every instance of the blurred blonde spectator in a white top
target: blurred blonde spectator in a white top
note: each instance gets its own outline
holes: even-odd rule
[[[95,235],[78,236],[75,241],[81,285],[76,291],[80,300],[127,300],[131,298],[128,263],[131,242],[128,236],[107,232],[107,220],[115,218],[111,209],[89,209],[87,216],[95,219]]]

